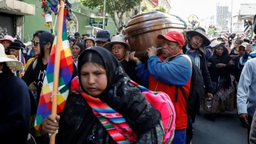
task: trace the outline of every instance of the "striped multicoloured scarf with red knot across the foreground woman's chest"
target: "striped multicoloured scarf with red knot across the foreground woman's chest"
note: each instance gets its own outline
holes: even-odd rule
[[[71,82],[71,92],[81,94],[89,106],[92,108],[94,115],[98,118],[100,123],[106,128],[108,134],[118,144],[136,143],[138,136],[127,124],[126,120],[121,114],[110,108],[107,104],[98,98],[94,98],[82,91],[78,77]]]

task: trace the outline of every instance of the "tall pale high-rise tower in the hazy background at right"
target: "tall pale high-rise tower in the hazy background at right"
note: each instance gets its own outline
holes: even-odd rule
[[[228,30],[228,6],[216,4],[216,26],[218,30]]]

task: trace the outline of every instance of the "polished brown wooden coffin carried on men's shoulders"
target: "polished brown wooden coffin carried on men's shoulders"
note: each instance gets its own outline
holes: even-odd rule
[[[161,53],[162,40],[158,34],[166,34],[170,30],[185,33],[187,28],[175,16],[159,11],[146,12],[133,16],[126,24],[124,35],[128,39],[131,51],[136,51],[136,57],[146,56],[146,49],[154,46]]]

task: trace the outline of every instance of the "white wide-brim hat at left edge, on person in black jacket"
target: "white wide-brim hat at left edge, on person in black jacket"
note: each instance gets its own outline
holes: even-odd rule
[[[2,44],[0,44],[0,62],[6,62],[6,65],[11,70],[21,70],[23,68],[23,64],[18,61],[14,55],[5,54]]]

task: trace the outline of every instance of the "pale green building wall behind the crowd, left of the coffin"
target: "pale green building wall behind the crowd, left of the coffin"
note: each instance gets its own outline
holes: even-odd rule
[[[9,0],[7,0],[9,1]],[[24,24],[23,24],[23,41],[28,42],[32,40],[34,32],[37,30],[46,30],[50,32],[50,28],[45,26],[45,18],[42,16],[42,3],[40,0],[24,0],[30,5],[34,5],[34,15],[33,16],[25,16]],[[74,35],[75,32],[79,32],[80,34],[92,34],[92,29],[86,28],[85,26],[90,26],[90,18],[95,16],[101,16],[102,14],[100,11],[95,8],[91,10],[82,6],[79,0],[71,0],[72,3],[72,13],[74,14],[74,20],[71,22],[67,21],[67,29],[70,35]],[[116,34],[118,31],[114,22],[111,18],[107,17],[108,24],[105,27],[106,30],[110,31],[110,34]],[[52,13],[52,20],[53,24],[56,20],[56,16]],[[97,25],[97,27],[101,27]],[[57,32],[57,26],[54,28],[54,31]]]

